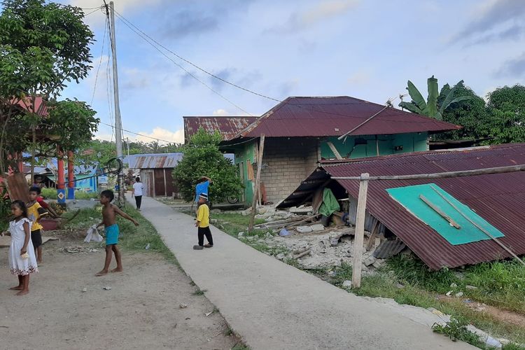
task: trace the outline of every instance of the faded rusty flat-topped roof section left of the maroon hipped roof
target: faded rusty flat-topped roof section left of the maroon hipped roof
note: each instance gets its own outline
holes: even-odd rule
[[[184,120],[184,140],[187,142],[190,137],[203,127],[207,132],[218,130],[223,134],[224,140],[228,141],[245,127],[255,122],[258,117],[183,117]]]

